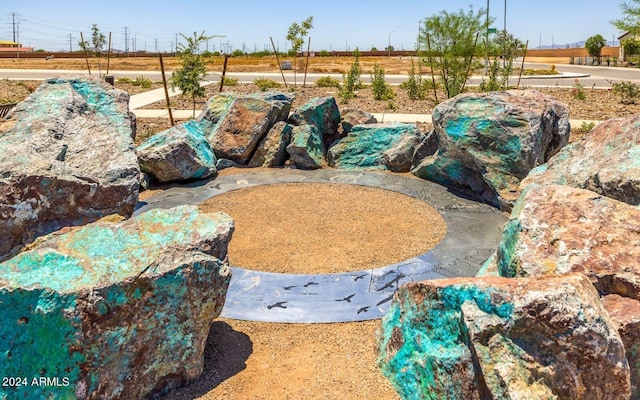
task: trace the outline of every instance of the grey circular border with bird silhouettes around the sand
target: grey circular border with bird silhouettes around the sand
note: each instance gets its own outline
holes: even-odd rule
[[[173,187],[138,205],[151,208],[198,204],[248,186],[277,183],[347,183],[402,193],[427,202],[447,223],[447,234],[430,251],[396,264],[335,274],[278,274],[233,267],[225,318],[325,323],[381,318],[398,286],[425,279],[475,276],[497,248],[507,217],[486,204],[455,196],[435,183],[371,171],[319,169],[251,170]]]

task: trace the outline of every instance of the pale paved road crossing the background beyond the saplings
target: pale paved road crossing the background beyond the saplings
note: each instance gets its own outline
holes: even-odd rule
[[[548,69],[549,64],[525,64],[526,68]],[[640,84],[640,69],[636,68],[614,68],[614,67],[592,67],[582,65],[556,65],[558,71],[563,75],[547,76],[547,77],[523,77],[521,86],[529,87],[571,87],[575,84],[575,79],[579,79],[579,82],[585,87],[596,88],[608,88],[611,87],[610,81],[628,80]],[[46,79],[57,75],[68,75],[86,73],[83,71],[68,71],[68,70],[23,70],[23,69],[0,69],[0,79]],[[145,76],[151,80],[159,81],[162,79],[160,72],[158,71],[111,71],[111,75],[117,78],[131,78],[135,79],[138,76]],[[335,79],[342,79],[341,74],[308,74],[307,82],[311,83],[316,79],[330,75]],[[256,78],[268,78],[276,81],[282,81],[282,77],[279,73],[253,73],[253,72],[233,72],[228,73],[227,76],[236,78],[240,82],[253,82]],[[369,81],[369,75],[363,74],[362,76],[365,82]],[[398,85],[407,79],[406,75],[387,75],[386,80],[392,85]],[[288,83],[293,82],[293,72],[286,72],[285,79]],[[219,81],[220,73],[213,72],[208,77],[209,81]],[[303,74],[297,74],[298,84],[301,84],[303,80]],[[470,79],[470,85],[477,85],[482,81],[482,76],[474,76]],[[517,78],[510,80],[511,84],[515,84]]]

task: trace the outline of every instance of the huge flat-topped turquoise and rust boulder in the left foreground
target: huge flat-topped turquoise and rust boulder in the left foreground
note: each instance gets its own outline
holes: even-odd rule
[[[0,397],[135,399],[196,379],[231,277],[229,216],[180,206],[69,230],[0,264],[0,375],[60,385]]]

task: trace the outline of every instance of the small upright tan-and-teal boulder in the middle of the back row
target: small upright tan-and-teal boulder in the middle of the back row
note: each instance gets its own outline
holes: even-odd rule
[[[291,162],[300,169],[318,169],[325,164],[322,135],[315,125],[299,125],[291,130],[287,146]]]

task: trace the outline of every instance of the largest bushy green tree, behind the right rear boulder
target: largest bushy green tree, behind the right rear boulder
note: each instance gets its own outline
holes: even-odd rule
[[[440,74],[448,98],[462,93],[469,78],[478,33],[487,29],[484,18],[482,8],[478,12],[473,7],[468,12],[440,11],[426,18],[420,27],[418,48],[423,50],[420,55],[427,58],[433,73]]]

